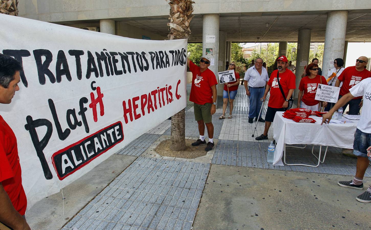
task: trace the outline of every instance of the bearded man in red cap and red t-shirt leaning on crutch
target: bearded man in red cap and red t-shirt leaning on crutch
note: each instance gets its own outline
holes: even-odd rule
[[[279,58],[277,58],[278,69],[272,72],[267,83],[264,96],[262,97],[262,99],[265,101],[265,98],[270,90],[268,108],[265,114],[265,128],[263,134],[255,138],[257,141],[268,139],[268,130],[275,118],[276,112],[285,111],[284,108],[288,107],[289,99],[291,98],[292,93],[296,88],[295,75],[291,72],[291,70],[286,69],[286,63],[287,58],[285,56],[280,56]],[[279,76],[278,80],[280,85],[282,86],[285,97],[283,97],[282,92],[279,88],[277,74]]]

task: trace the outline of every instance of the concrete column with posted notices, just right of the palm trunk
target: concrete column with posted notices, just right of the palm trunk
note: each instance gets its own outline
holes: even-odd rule
[[[207,55],[211,59],[210,61],[212,64],[209,66],[209,69],[213,71],[216,78],[218,78],[219,14],[205,14],[203,16],[202,26],[202,55],[206,55],[206,49],[213,49],[213,54]],[[224,38],[224,44],[225,42],[226,40]],[[218,95],[219,93],[220,92],[218,90]],[[220,104],[218,101],[217,103]]]

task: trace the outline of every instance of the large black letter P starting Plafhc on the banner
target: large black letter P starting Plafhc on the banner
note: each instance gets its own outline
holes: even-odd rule
[[[53,125],[52,122],[47,119],[36,119],[33,120],[32,116],[26,117],[27,124],[24,125],[24,128],[30,132],[31,140],[33,146],[35,147],[37,157],[39,157],[41,167],[44,172],[46,180],[53,178],[52,172],[47,164],[43,150],[45,149],[47,143],[49,142],[50,137],[52,137]],[[39,136],[37,135],[36,128],[40,126],[46,126],[46,133],[44,137],[39,141]]]

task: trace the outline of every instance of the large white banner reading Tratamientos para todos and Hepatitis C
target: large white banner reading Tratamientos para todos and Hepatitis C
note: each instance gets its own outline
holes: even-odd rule
[[[0,14],[20,91],[0,115],[30,208],[186,106],[187,40],[141,40]]]

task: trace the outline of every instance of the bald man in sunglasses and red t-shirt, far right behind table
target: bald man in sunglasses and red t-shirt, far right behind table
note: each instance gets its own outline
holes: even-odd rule
[[[355,66],[349,66],[343,70],[335,83],[335,86],[339,87],[340,83],[343,82],[339,92],[339,99],[345,94],[349,93],[349,89],[357,85],[363,79],[371,77],[371,72],[365,69],[367,62],[368,58],[361,56],[355,61]],[[343,112],[348,105],[349,115],[358,115],[359,110],[363,105],[362,97],[355,97],[348,101],[347,104],[343,106]]]

